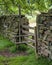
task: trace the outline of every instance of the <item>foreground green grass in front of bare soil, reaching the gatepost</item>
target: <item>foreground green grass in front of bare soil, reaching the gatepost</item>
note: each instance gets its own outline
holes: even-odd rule
[[[4,65],[4,62],[8,65],[52,65],[52,62],[46,58],[40,57],[37,59],[33,49],[28,50],[28,56],[17,56],[6,58],[0,56],[0,65]]]

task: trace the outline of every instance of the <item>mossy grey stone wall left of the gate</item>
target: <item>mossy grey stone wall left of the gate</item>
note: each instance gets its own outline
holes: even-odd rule
[[[22,15],[21,22],[27,23],[28,19],[24,15]],[[19,35],[19,25],[18,24],[19,24],[18,15],[0,16],[0,35],[3,35],[4,37],[7,37],[11,41],[15,42],[16,36]]]

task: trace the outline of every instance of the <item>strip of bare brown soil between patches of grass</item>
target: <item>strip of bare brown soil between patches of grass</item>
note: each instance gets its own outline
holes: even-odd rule
[[[5,56],[5,57],[15,57],[15,56],[24,56],[24,55],[28,55],[28,53],[26,51],[20,51],[20,52],[9,52],[8,49],[2,50],[0,51],[0,56]]]

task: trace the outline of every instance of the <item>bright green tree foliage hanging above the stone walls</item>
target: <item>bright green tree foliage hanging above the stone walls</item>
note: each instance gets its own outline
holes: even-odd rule
[[[23,13],[46,12],[52,6],[52,0],[0,0],[0,14],[18,14],[19,5]]]

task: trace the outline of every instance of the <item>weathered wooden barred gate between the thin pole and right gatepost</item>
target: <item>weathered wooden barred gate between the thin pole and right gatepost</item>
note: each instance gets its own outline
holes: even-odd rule
[[[30,32],[29,30],[34,30],[34,33]],[[22,23],[22,33],[23,35],[23,40],[27,45],[30,45],[31,47],[35,47],[35,27],[31,27],[29,25],[24,25]]]

